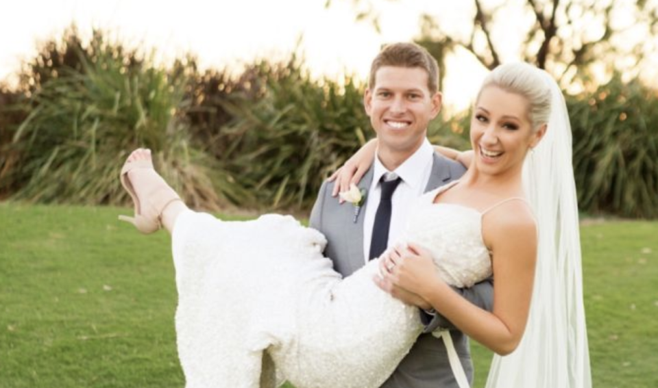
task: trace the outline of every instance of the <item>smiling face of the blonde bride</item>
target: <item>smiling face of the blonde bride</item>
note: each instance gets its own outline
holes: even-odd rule
[[[546,125],[533,131],[529,107],[524,96],[498,86],[482,90],[471,119],[471,144],[479,172],[520,171],[526,153],[546,131]]]

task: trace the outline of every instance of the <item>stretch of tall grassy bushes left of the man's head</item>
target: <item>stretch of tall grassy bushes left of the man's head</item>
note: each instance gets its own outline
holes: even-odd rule
[[[371,136],[363,84],[313,79],[302,56],[229,75],[199,71],[190,55],[158,66],[153,53],[106,36],[83,42],[69,28],[0,91],[2,198],[125,203],[119,168],[145,146],[195,207],[305,211]]]

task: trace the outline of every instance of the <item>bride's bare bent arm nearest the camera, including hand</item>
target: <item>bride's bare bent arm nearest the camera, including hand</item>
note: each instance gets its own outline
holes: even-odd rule
[[[515,211],[492,211],[483,219],[483,234],[493,250],[493,311],[454,292],[437,275],[429,253],[414,244],[389,255],[392,263],[382,262],[378,285],[393,296],[395,287],[418,294],[469,337],[498,354],[509,354],[526,326],[537,256],[534,219],[525,205],[517,206]]]

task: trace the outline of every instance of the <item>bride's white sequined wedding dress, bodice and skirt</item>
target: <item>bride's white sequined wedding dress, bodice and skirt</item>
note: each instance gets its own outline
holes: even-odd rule
[[[433,204],[445,187],[420,198],[406,239],[432,252],[448,283],[470,286],[491,275],[481,216]],[[187,388],[380,387],[421,333],[419,313],[378,289],[377,261],[341,279],[325,244],[290,216],[180,215],[173,258]]]

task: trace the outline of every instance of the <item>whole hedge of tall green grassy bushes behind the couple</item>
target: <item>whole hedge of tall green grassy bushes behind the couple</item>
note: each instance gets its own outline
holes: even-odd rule
[[[128,151],[149,147],[157,168],[203,209],[307,211],[321,181],[372,136],[364,83],[310,77],[304,57],[259,60],[239,75],[169,66],[154,53],[75,26],[42,44],[16,88],[0,90],[0,198],[118,205]],[[581,84],[594,85],[583,73]],[[658,216],[657,92],[613,74],[568,94],[581,210]],[[470,114],[441,116],[430,140],[468,148]]]

